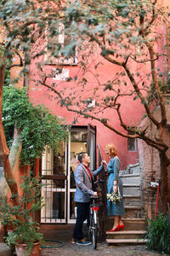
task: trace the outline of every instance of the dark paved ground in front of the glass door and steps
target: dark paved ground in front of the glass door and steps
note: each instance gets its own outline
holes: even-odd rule
[[[42,225],[45,239],[56,239],[64,242],[63,247],[42,248],[41,256],[158,256],[159,253],[147,251],[145,246],[107,247],[105,242],[99,242],[97,250],[90,246],[71,244],[73,225]],[[85,228],[86,231],[86,228]],[[86,232],[85,232],[86,233]],[[54,242],[45,245],[54,245]]]

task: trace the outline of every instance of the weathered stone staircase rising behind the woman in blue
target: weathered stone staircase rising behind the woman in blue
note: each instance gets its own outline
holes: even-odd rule
[[[146,229],[145,218],[142,218],[142,198],[140,190],[139,164],[128,166],[121,172],[123,184],[123,199],[125,205],[125,218],[122,218],[125,229],[116,232],[106,232],[107,245],[144,244]],[[111,229],[113,220],[109,221]]]

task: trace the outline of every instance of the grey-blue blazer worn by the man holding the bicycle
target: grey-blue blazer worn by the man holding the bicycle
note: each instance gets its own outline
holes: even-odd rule
[[[100,172],[104,170],[103,166],[99,166],[99,169],[92,172],[92,177],[99,175]],[[92,190],[92,181],[88,174],[88,171],[85,166],[79,164],[74,174],[75,183],[77,185],[77,190],[75,192],[74,201],[77,202],[89,202],[90,196],[94,195],[94,191]]]

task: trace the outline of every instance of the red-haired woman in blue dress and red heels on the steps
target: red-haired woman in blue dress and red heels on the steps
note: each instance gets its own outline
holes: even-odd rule
[[[105,146],[105,153],[111,158],[109,164],[107,165],[108,172],[108,181],[107,181],[107,193],[112,193],[113,191],[116,193],[118,188],[120,190],[120,194],[122,195],[122,180],[119,177],[120,171],[120,160],[116,153],[116,148],[114,144],[108,144]],[[121,216],[125,214],[123,199],[118,201],[116,205],[111,201],[107,200],[107,212],[108,216],[114,216],[114,224],[111,232],[123,230],[124,224],[122,223]]]

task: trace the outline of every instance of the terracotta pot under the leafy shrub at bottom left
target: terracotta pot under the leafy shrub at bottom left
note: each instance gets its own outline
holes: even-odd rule
[[[15,245],[15,250],[17,256],[26,256],[26,250],[28,246],[27,244],[17,244]],[[29,256],[39,256],[40,255],[40,241],[34,243],[33,247],[31,248],[31,253]]]

